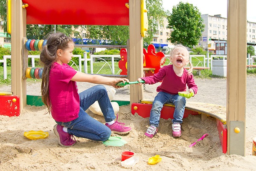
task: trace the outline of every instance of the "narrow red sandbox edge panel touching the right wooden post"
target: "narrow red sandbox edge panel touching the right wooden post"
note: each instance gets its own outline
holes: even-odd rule
[[[216,123],[217,123],[218,132],[219,132],[219,138],[221,141],[222,152],[226,154],[227,153],[227,128],[225,128],[224,124],[220,120],[216,119]]]

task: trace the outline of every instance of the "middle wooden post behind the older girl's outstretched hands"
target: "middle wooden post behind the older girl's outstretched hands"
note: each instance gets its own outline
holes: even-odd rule
[[[140,0],[129,0],[130,45],[129,80],[136,81],[143,77],[143,37],[140,34]],[[139,103],[143,97],[143,86],[130,85],[130,103]]]

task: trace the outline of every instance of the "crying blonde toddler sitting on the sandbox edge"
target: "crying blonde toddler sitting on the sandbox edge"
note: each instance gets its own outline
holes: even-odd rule
[[[175,46],[170,52],[170,61],[172,65],[163,66],[157,74],[149,77],[139,78],[138,81],[144,80],[146,84],[154,84],[162,81],[161,85],[157,87],[157,96],[154,98],[152,108],[150,111],[150,118],[147,131],[145,135],[152,138],[157,134],[157,127],[159,126],[160,114],[163,105],[166,103],[173,103],[175,111],[172,119],[172,135],[173,137],[181,136],[180,124],[182,123],[186,98],[179,96],[179,91],[186,91],[188,87],[189,92],[197,93],[198,87],[192,75],[192,63],[189,61],[189,51],[182,45]],[[161,62],[166,59],[164,57]],[[189,70],[184,66],[189,63]],[[142,83],[139,83],[142,85]]]

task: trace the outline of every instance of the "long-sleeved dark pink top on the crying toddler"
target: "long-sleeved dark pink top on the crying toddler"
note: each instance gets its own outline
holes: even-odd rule
[[[191,88],[196,94],[198,86],[195,84],[195,80],[192,74],[188,74],[188,71],[184,69],[181,77],[175,74],[173,65],[163,66],[157,74],[149,77],[142,77],[146,84],[154,84],[163,81],[161,85],[157,87],[157,92],[163,91],[169,94],[178,94],[179,91],[186,91],[186,88]]]

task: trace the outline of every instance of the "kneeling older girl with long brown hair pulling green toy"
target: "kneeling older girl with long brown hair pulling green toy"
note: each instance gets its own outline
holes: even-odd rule
[[[76,143],[73,137],[105,141],[116,134],[127,134],[131,127],[115,121],[116,117],[108,98],[106,88],[96,85],[78,94],[76,81],[112,85],[128,81],[126,78],[110,78],[100,75],[85,74],[67,65],[73,57],[73,40],[63,33],[53,33],[47,38],[40,60],[44,64],[42,74],[42,101],[57,123],[54,133],[61,146]],[[105,125],[90,117],[85,111],[95,101],[99,102],[105,118]]]

